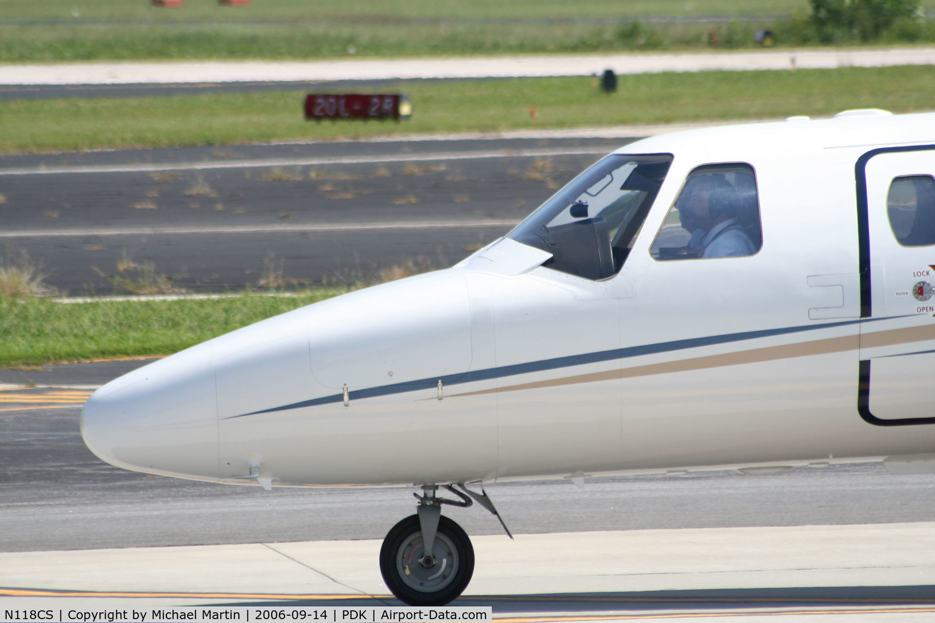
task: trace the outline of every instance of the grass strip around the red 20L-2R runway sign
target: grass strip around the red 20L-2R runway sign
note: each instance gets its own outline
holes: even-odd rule
[[[404,82],[387,89],[412,98],[413,117],[403,123],[306,121],[301,92],[18,100],[0,102],[0,152],[822,116],[865,107],[912,112],[932,109],[933,78],[929,66],[639,74],[620,76],[611,95],[586,77]]]

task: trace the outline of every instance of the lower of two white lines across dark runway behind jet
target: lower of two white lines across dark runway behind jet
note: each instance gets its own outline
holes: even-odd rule
[[[457,227],[512,227],[518,220],[453,220],[448,222],[398,221],[388,223],[236,225],[232,227],[134,227],[127,229],[22,230],[0,232],[0,238],[63,237],[86,235],[156,234],[272,234],[278,232],[363,232],[390,229],[447,229]]]

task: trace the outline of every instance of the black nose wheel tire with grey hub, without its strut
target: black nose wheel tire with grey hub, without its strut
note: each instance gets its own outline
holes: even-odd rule
[[[474,547],[461,526],[440,517],[432,550],[425,551],[417,515],[397,523],[383,539],[380,571],[401,602],[444,605],[468,588],[474,573]]]

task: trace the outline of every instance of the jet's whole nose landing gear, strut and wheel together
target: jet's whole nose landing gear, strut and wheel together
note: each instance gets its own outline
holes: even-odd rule
[[[460,500],[436,495],[437,485],[424,485],[417,514],[396,524],[383,539],[380,571],[393,594],[410,605],[444,605],[468,587],[474,573],[474,548],[468,534],[448,517],[441,516],[441,505],[467,508],[476,500],[506,524],[496,512],[486,492],[476,493],[459,483],[462,490],[445,485]],[[464,492],[462,492],[464,491]]]

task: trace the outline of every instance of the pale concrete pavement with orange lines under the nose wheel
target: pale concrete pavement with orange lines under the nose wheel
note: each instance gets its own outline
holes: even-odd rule
[[[572,532],[472,539],[474,577],[453,605],[535,620],[786,615],[926,620],[935,523]],[[396,603],[380,541],[0,554],[0,595],[147,602]],[[25,589],[25,590],[24,590]],[[6,607],[23,598],[0,600]],[[113,603],[113,602],[110,602]],[[7,605],[11,604],[11,605]],[[22,607],[22,606],[15,606]],[[860,616],[863,615],[863,616]],[[580,620],[580,619],[579,619]],[[822,618],[822,620],[829,620]]]

